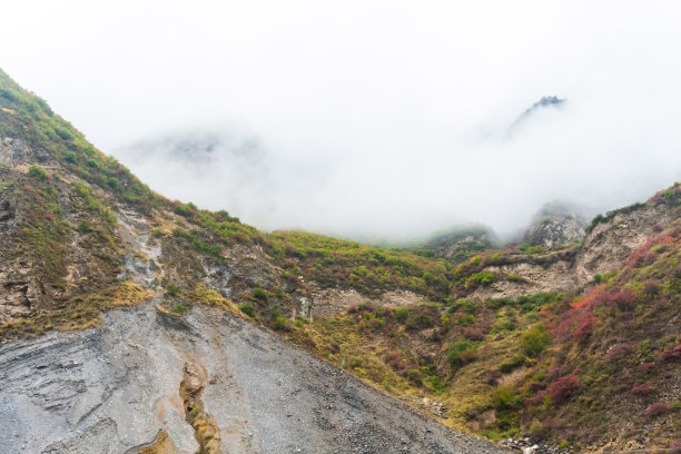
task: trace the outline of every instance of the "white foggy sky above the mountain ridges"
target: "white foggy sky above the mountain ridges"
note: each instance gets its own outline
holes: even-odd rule
[[[3,3],[12,78],[152,188],[263,228],[504,233],[681,178],[678,1]],[[259,158],[121,148],[196,130]]]

